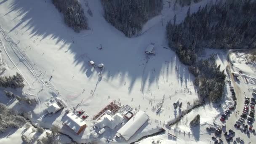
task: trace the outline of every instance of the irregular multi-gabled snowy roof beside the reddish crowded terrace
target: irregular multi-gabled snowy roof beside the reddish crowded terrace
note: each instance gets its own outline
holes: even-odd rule
[[[104,128],[104,127],[109,127],[111,129],[114,129],[117,125],[120,123],[123,123],[123,117],[120,114],[115,114],[113,117],[110,115],[106,114],[101,117],[101,119],[96,123],[94,126],[97,128]]]

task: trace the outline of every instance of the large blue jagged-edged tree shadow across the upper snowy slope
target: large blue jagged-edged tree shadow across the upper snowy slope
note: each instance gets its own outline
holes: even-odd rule
[[[88,61],[93,60],[95,64],[103,63],[104,80],[108,82],[120,75],[120,84],[126,83],[126,80],[130,81],[127,83],[129,93],[137,79],[142,79],[142,93],[154,82],[158,83],[159,77],[164,77],[163,70],[166,70],[168,75],[176,74],[181,86],[187,86],[188,82],[194,80],[187,66],[180,63],[176,53],[162,48],[165,32],[149,30],[139,37],[125,37],[122,32],[105,21],[101,9],[98,8],[100,1],[88,1],[88,5],[93,17],[87,13],[85,16],[91,30],[80,33],[74,32],[64,24],[63,15],[54,7],[51,0],[13,0],[3,18],[10,13],[16,13],[17,17],[22,19],[9,32],[16,32],[17,35],[29,32],[31,40],[37,40],[36,38],[40,36],[42,38],[36,41],[38,45],[41,40],[55,40],[59,48],[53,48],[53,51],[74,55],[73,64],[81,66],[80,71],[85,72],[86,77],[90,78],[93,73]],[[144,50],[151,42],[156,42],[157,54],[146,59]],[[100,45],[102,50],[99,50]],[[165,76],[166,81],[168,75]],[[166,83],[171,83],[170,81]]]

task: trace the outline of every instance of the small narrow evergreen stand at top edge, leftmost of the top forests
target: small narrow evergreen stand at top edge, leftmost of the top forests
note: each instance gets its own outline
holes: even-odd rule
[[[75,32],[88,29],[83,8],[77,0],[52,0],[53,5],[64,15],[64,21]]]

